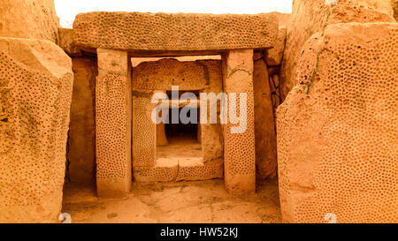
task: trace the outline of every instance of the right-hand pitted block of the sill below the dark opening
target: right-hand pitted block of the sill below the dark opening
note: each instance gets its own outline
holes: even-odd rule
[[[176,181],[210,180],[224,177],[224,159],[209,162],[180,162]]]

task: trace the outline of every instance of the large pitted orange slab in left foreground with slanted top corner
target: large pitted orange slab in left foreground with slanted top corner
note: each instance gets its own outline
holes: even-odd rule
[[[0,38],[0,222],[57,222],[72,90],[53,42]]]

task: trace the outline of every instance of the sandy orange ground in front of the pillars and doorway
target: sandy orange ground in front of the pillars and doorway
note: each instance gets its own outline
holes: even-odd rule
[[[229,195],[224,180],[134,183],[126,200],[97,199],[92,188],[67,185],[63,212],[74,223],[281,222],[277,178],[245,197]]]

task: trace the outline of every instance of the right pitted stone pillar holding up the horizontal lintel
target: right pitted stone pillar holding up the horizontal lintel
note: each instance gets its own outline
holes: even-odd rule
[[[223,56],[224,92],[228,96],[228,122],[224,126],[225,183],[231,194],[256,192],[256,152],[254,132],[253,49],[231,50]],[[236,94],[236,104],[230,97]],[[246,126],[233,133],[231,107],[240,117],[241,94],[247,95]],[[246,127],[246,128],[244,128]],[[235,130],[236,131],[236,130]]]

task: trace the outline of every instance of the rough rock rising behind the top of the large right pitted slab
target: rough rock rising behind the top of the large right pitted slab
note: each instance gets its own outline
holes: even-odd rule
[[[312,34],[333,23],[395,22],[391,5],[386,0],[339,0],[326,5],[325,0],[295,0],[292,24],[287,30],[287,45],[280,71],[282,99],[295,86],[295,73],[302,46]]]

